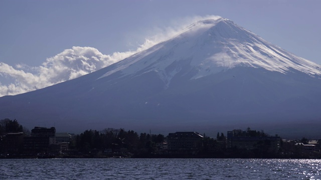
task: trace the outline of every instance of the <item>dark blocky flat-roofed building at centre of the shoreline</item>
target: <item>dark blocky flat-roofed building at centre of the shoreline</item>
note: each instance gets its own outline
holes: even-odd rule
[[[197,154],[203,145],[203,136],[196,132],[169,133],[168,152],[172,154]]]

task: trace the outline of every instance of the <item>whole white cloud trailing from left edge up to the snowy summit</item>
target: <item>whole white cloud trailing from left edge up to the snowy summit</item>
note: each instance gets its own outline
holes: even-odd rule
[[[14,79],[14,82],[9,84],[0,82],[0,96],[24,93],[85,75],[164,41],[197,20],[218,17],[214,15],[192,16],[173,20],[170,27],[155,27],[153,29],[155,35],[147,37],[145,42],[133,51],[106,55],[93,47],[73,46],[71,49],[65,49],[47,58],[42,65],[37,67],[30,67],[27,64],[16,64],[13,67],[0,62],[0,76]]]

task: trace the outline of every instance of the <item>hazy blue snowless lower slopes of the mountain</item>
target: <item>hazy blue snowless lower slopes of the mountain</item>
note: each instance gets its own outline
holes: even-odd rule
[[[321,123],[318,110],[321,80],[301,72],[282,74],[263,68],[238,67],[193,80],[178,76],[169,87],[152,71],[143,76],[122,77],[117,83],[109,76],[92,80],[90,90],[82,86],[88,77],[80,77],[0,98],[0,111],[27,125],[55,125],[62,131],[78,132],[124,127],[137,131],[194,130],[210,134],[251,126],[296,136],[299,134],[293,132],[317,133],[307,126]],[[73,85],[62,88],[65,83]]]

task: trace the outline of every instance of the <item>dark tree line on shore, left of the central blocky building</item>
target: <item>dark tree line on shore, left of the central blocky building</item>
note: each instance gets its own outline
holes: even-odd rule
[[[149,154],[156,152],[156,143],[162,143],[165,140],[163,134],[140,133],[133,130],[125,131],[122,128],[105,128],[101,131],[85,130],[76,135],[72,140],[72,149],[77,149],[81,153],[95,153],[111,149],[119,151],[126,149],[135,155]]]

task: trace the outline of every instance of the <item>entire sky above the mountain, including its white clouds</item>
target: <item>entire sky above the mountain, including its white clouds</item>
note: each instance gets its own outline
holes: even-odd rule
[[[152,44],[208,15],[321,64],[320,6],[319,0],[1,0],[0,96],[97,70],[146,39]]]

